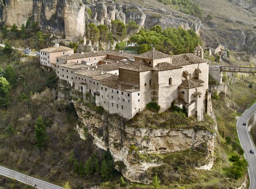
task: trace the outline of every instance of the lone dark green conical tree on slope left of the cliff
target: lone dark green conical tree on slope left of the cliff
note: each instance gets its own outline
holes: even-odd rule
[[[35,124],[35,140],[38,147],[42,147],[49,140],[42,116],[39,115]]]

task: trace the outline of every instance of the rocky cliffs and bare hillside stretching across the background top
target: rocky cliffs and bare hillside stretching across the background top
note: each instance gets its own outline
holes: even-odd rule
[[[182,26],[200,34],[207,47],[214,48],[221,43],[232,51],[255,55],[255,4],[237,0],[198,0],[197,3],[204,8],[203,22],[154,0],[4,0],[0,1],[0,22],[21,27],[31,18],[39,21],[41,31],[65,35],[68,39],[83,37],[88,23],[110,28],[111,21],[118,19],[125,23],[135,20],[141,28],[156,24],[162,28]],[[209,12],[213,20],[207,19]]]

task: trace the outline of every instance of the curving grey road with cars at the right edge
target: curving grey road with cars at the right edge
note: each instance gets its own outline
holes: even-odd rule
[[[252,139],[250,138],[250,134],[247,129],[247,125],[243,125],[243,122],[248,124],[248,121],[251,116],[256,113],[256,103],[253,104],[247,111],[243,113],[243,115],[236,122],[236,130],[239,137],[239,141],[241,147],[244,149],[244,158],[248,161],[249,168],[249,178],[250,178],[250,187],[249,189],[256,189],[256,154],[251,154],[250,150],[254,150],[256,152],[255,146],[253,144]]]

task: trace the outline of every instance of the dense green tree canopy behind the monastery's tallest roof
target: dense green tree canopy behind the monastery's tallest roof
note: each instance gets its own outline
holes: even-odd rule
[[[155,25],[150,31],[140,30],[130,41],[137,43],[139,53],[150,51],[154,47],[157,51],[173,55],[193,53],[200,38],[192,29],[168,27],[162,31],[159,25]]]

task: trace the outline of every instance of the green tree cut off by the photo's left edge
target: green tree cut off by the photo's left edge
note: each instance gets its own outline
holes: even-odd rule
[[[9,82],[4,77],[0,77],[0,107],[11,104],[9,99],[9,90],[11,89]]]

